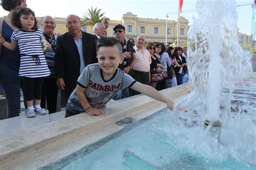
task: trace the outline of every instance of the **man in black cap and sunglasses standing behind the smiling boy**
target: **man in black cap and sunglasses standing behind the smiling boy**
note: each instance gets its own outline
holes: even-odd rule
[[[121,45],[123,48],[123,62],[120,63],[118,68],[123,70],[125,73],[129,74],[132,76],[132,67],[134,63],[136,62],[136,56],[134,54],[133,50],[133,44],[131,39],[127,39],[124,37],[125,34],[125,27],[121,24],[118,24],[114,27],[114,33],[116,34],[116,38],[121,40]],[[114,100],[119,100],[121,98],[126,98],[129,97],[129,90],[123,89],[122,91],[119,91],[117,96],[115,96],[113,99]]]

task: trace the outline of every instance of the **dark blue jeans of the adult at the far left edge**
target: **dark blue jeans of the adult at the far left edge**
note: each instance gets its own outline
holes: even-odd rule
[[[6,98],[7,118],[19,116],[21,109],[21,80],[19,77],[5,77],[1,81]]]

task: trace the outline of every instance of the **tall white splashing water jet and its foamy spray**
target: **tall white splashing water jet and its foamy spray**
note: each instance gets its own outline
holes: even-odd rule
[[[220,121],[221,129],[213,126],[205,129],[205,134],[213,132],[213,135],[201,141],[201,145],[214,148],[210,146],[210,141],[214,140],[232,157],[255,166],[255,103],[251,102],[254,105],[251,107],[246,94],[242,94],[238,102],[244,105],[239,103],[233,108],[234,96],[244,93],[235,83],[245,80],[251,72],[252,56],[237,43],[236,3],[234,0],[198,0],[197,10],[198,18],[193,20],[188,31],[187,62],[193,89],[176,102],[191,111],[174,110],[173,122],[203,128],[206,119]],[[249,95],[255,98],[255,94]],[[243,112],[246,109],[249,111]],[[193,128],[188,130],[193,133]],[[202,152],[209,149],[202,148]]]

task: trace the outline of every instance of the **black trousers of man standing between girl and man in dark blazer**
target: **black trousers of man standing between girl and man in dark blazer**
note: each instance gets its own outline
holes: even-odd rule
[[[56,85],[55,77],[44,78],[42,87],[41,107],[45,108],[45,103],[47,102],[47,109],[49,110],[49,114],[56,112],[57,96],[58,87]]]

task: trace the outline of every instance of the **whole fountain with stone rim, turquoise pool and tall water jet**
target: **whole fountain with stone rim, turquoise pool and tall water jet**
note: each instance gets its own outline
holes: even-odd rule
[[[250,54],[236,43],[235,2],[199,0],[197,8],[188,34],[192,91],[190,84],[161,91],[184,96],[176,104],[190,112],[130,97],[99,117],[1,136],[0,169],[255,169],[256,74],[245,75]]]

